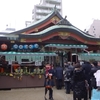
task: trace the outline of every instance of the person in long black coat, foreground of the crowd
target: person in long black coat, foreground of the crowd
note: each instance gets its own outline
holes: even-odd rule
[[[85,77],[84,70],[79,63],[76,63],[75,69],[73,72],[73,100],[88,100],[87,88],[88,82]]]

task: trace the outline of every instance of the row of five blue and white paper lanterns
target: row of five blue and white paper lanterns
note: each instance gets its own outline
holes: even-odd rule
[[[13,49],[38,49],[39,48],[39,45],[38,44],[30,44],[30,45],[17,45],[17,44],[14,44],[13,45]]]

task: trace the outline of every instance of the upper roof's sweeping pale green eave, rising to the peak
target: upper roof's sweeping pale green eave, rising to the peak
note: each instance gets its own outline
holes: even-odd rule
[[[40,19],[39,21],[34,22],[32,25],[30,25],[30,26],[28,26],[28,27],[26,27],[24,29],[21,29],[21,30],[15,31],[15,32],[11,32],[9,34],[21,34],[21,33],[24,33],[25,31],[31,30],[33,28],[38,27],[39,25],[42,25],[42,24],[46,23],[48,20],[53,18],[55,15],[58,16],[60,19],[63,19],[63,17],[60,15],[58,10],[54,9],[50,14],[48,14],[43,19]]]

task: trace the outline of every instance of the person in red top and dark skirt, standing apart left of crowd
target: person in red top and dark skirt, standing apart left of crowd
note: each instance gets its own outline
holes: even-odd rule
[[[45,83],[44,83],[45,99],[47,91],[49,91],[49,100],[53,100],[53,89],[52,89],[52,87],[54,86],[53,76],[54,76],[54,71],[51,68],[50,64],[47,64],[45,67]]]

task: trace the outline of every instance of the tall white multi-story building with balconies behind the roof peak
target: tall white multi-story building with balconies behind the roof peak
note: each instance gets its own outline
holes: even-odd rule
[[[40,0],[40,4],[32,10],[32,22],[47,16],[55,6],[62,15],[62,0]]]

